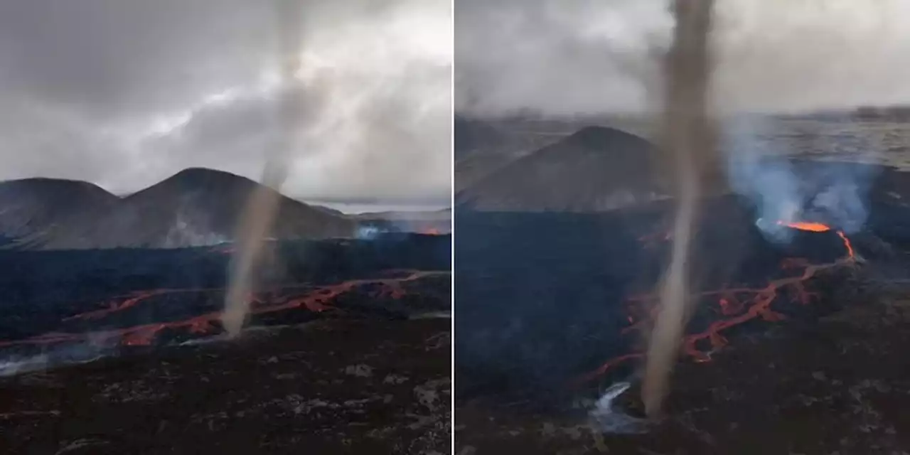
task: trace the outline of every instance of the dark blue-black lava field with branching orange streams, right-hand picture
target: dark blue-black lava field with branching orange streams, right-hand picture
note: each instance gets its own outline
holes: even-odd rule
[[[787,239],[776,241],[740,200],[708,204],[692,246],[698,290],[683,361],[709,362],[741,336],[811,324],[847,303],[836,288],[862,262],[853,238],[804,221],[777,223]],[[664,208],[457,217],[457,396],[546,399],[567,382],[634,377],[672,247]]]

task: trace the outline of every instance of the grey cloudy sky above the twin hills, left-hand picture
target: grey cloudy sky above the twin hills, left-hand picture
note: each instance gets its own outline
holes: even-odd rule
[[[272,1],[0,0],[0,179],[258,179],[278,139]],[[450,1],[304,3],[300,76],[326,103],[283,192],[448,200]]]

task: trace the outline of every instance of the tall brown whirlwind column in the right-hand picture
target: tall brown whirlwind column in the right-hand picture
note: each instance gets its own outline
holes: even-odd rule
[[[700,179],[716,163],[709,117],[708,35],[713,0],[676,0],[676,27],[667,56],[663,140],[678,204],[670,265],[661,288],[661,308],[645,362],[642,401],[649,417],[661,410],[687,319],[688,271]]]

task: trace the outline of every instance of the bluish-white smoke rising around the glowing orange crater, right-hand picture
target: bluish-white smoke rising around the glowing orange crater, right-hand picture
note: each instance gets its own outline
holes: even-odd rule
[[[829,119],[812,125],[824,128],[837,124]],[[735,116],[723,128],[731,189],[753,201],[759,217],[756,225],[774,242],[787,242],[794,235],[793,229],[779,222],[823,222],[847,234],[860,230],[869,215],[867,192],[876,168],[833,163],[798,167],[791,159],[800,157],[803,147],[793,141],[770,139],[774,129],[782,127],[766,117]],[[847,146],[844,162],[874,162],[881,147],[868,136],[824,130],[803,131],[801,135],[814,136],[808,139],[808,147],[816,153],[836,153]],[[805,138],[795,140],[801,139]]]

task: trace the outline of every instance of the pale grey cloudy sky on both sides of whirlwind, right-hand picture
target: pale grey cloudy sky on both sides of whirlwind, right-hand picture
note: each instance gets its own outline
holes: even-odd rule
[[[456,108],[652,108],[666,0],[456,0]],[[910,0],[717,0],[725,109],[910,103]]]

